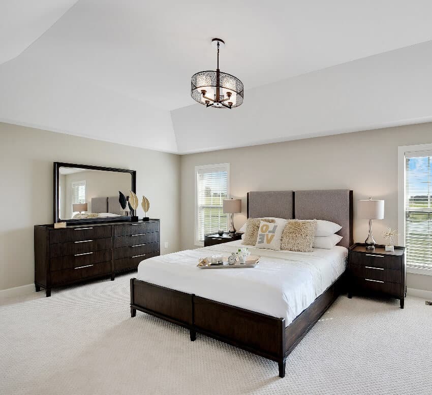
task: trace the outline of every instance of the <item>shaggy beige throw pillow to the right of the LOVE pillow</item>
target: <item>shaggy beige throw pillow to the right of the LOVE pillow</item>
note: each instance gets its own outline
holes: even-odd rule
[[[317,221],[290,219],[282,233],[281,249],[311,252],[315,239]]]

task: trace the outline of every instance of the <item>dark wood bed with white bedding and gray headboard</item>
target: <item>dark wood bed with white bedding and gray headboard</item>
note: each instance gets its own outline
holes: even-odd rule
[[[285,376],[286,358],[344,288],[352,238],[352,191],[248,193],[248,216],[325,219],[342,225],[341,242],[311,253],[250,248],[258,268],[200,270],[199,257],[236,251],[241,241],[150,258],[131,279],[136,310],[274,360]],[[243,246],[243,245],[241,245]]]

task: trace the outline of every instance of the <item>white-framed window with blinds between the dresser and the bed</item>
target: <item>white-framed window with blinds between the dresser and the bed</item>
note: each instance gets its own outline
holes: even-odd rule
[[[228,214],[222,202],[229,198],[229,163],[195,167],[195,244],[204,244],[204,235],[227,231]]]

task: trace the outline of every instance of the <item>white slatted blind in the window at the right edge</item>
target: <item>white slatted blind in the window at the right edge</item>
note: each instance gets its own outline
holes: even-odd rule
[[[432,152],[405,157],[405,246],[407,264],[432,269]]]

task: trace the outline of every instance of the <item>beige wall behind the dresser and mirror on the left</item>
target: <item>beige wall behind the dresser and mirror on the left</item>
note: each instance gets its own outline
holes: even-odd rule
[[[53,222],[54,161],[136,170],[138,196],[161,219],[161,253],[179,249],[178,155],[0,123],[0,290],[34,282],[33,226]]]

